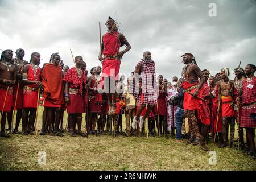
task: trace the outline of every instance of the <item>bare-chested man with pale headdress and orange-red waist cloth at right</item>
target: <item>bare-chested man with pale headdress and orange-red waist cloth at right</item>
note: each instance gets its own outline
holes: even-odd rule
[[[222,80],[217,82],[218,86],[218,102],[221,109],[222,117],[222,135],[223,145],[219,147],[229,146],[228,131],[230,124],[230,148],[234,148],[234,88],[232,88],[233,80],[229,80],[229,68],[221,69],[220,76]],[[218,110],[219,112],[220,110]]]

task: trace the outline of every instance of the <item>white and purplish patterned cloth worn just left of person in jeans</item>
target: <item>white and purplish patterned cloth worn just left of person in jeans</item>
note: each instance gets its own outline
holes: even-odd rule
[[[175,122],[175,113],[177,110],[177,105],[170,105],[168,101],[172,97],[176,97],[177,92],[176,89],[167,89],[167,96],[166,96],[166,108],[167,108],[167,130],[170,131],[171,127],[176,127],[176,122]]]

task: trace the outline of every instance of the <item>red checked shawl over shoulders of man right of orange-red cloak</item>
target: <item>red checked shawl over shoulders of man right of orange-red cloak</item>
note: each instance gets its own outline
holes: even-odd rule
[[[63,78],[63,81],[75,85],[75,88],[80,88],[80,91],[82,92],[82,84],[86,85],[86,76],[85,73],[82,72],[82,77],[79,78],[76,68],[73,67],[67,71]]]

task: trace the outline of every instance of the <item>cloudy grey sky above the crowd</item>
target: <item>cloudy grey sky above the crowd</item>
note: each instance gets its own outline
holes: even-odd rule
[[[70,48],[74,56],[84,57],[88,70],[100,65],[98,22],[103,35],[108,16],[120,23],[132,47],[121,63],[125,75],[134,71],[144,51],[152,53],[156,73],[168,80],[180,77],[185,52],[212,75],[225,66],[236,68],[239,61],[243,68],[255,64],[255,0],[0,0],[0,15],[0,49],[23,48],[25,60],[39,52],[41,65],[59,52],[64,64],[72,66]]]

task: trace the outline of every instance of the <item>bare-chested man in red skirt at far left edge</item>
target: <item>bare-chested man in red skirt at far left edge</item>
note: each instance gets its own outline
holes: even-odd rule
[[[1,137],[10,137],[5,133],[6,113],[10,113],[13,104],[13,86],[16,83],[17,68],[11,64],[13,51],[5,50],[0,58],[0,113]]]

